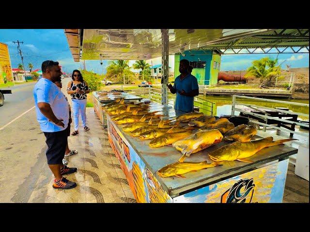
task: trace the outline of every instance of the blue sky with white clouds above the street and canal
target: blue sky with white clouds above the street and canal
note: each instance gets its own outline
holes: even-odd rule
[[[0,29],[0,42],[9,45],[13,68],[17,68],[17,65],[21,63],[17,53],[17,44],[12,43],[17,40],[24,42],[21,44],[21,49],[25,66],[31,62],[34,69],[41,69],[44,60],[52,59],[59,61],[65,72],[72,72],[74,69],[83,67],[82,63],[73,61],[63,29]],[[265,56],[264,54],[224,55],[221,58],[221,70],[245,70],[253,60]],[[277,54],[267,56],[275,58]],[[154,65],[157,64],[157,60],[160,62],[161,59],[156,58],[155,60]],[[85,62],[87,70],[106,73],[107,60],[103,61],[102,66],[99,60],[86,60]],[[283,62],[282,68],[286,68],[285,64],[291,65],[291,68],[309,67],[309,54],[279,54],[279,62]],[[132,63],[134,61],[129,62],[130,65]],[[173,61],[170,66],[173,70]]]

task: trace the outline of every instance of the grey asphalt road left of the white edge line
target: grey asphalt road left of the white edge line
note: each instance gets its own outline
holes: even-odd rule
[[[4,105],[0,107],[0,128],[34,106],[32,90],[35,84],[31,82],[3,88],[12,89],[12,94],[4,95]]]

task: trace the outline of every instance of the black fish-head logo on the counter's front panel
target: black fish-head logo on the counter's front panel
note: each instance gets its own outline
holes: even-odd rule
[[[221,203],[251,203],[255,184],[253,179],[239,180],[221,196]]]

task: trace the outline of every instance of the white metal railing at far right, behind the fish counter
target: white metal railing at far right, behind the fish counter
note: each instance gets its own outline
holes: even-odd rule
[[[290,115],[305,116],[305,117],[308,117],[308,118],[309,118],[309,114],[297,113],[297,112],[294,112],[294,111],[281,110],[281,109],[270,108],[270,107],[265,107],[265,106],[258,106],[258,105],[253,105],[253,104],[246,104],[246,103],[238,102],[236,100],[237,98],[252,99],[252,100],[255,100],[255,101],[262,101],[262,102],[277,102],[277,103],[282,103],[283,106],[291,104],[291,105],[305,106],[305,107],[309,108],[309,104],[297,103],[297,102],[285,102],[285,101],[278,101],[278,100],[270,100],[270,99],[261,99],[261,98],[253,98],[253,97],[233,95],[233,104],[232,104],[232,113],[231,113],[232,116],[235,116],[235,114],[234,114],[235,111],[239,111],[239,112],[242,112],[244,114],[255,116],[255,117],[258,117],[258,118],[264,120],[264,123],[258,122],[258,121],[255,121],[255,120],[249,120],[251,123],[255,123],[255,124],[258,124],[260,126],[263,126],[263,131],[266,131],[266,127],[271,127],[271,128],[277,129],[279,131],[285,131],[285,132],[294,133],[294,134],[298,134],[298,135],[301,135],[301,136],[309,137],[309,133],[302,133],[302,132],[299,132],[299,131],[292,131],[292,130],[289,130],[289,129],[273,126],[273,125],[267,124],[267,121],[268,121],[268,119],[271,119],[271,120],[279,121],[279,123],[280,122],[284,122],[284,123],[299,125],[299,126],[308,127],[308,128],[309,128],[309,124],[300,123],[300,122],[294,122],[294,121],[291,121],[291,120],[286,120],[286,119],[282,119],[282,118],[273,117],[273,116],[270,116],[270,114],[268,114],[267,112],[265,112],[265,111],[263,111],[261,109],[271,110],[271,111],[274,111],[274,112],[280,112],[280,113],[285,113],[285,114],[289,113]],[[237,108],[237,105],[241,105],[241,106],[244,106],[244,107],[243,108]],[[259,112],[263,113],[263,115],[257,114],[257,113],[253,113],[253,112],[248,112],[248,111],[244,110],[246,108],[250,108],[252,110],[259,111]]]

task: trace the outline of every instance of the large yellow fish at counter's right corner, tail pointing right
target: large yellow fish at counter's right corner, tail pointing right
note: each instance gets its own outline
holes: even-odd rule
[[[247,158],[255,155],[257,152],[268,146],[276,146],[295,139],[281,139],[273,141],[273,137],[267,137],[261,140],[250,142],[234,142],[229,145],[222,146],[217,150],[210,152],[208,155],[214,161],[233,161],[253,162]]]

